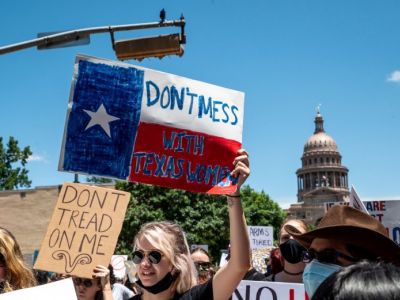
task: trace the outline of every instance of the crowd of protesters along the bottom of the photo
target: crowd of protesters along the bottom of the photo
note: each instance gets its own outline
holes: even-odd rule
[[[229,299],[240,281],[304,283],[312,300],[400,299],[400,247],[375,218],[349,206],[328,210],[315,229],[286,220],[267,273],[251,266],[240,187],[250,174],[248,155],[238,152],[232,176],[237,190],[227,195],[230,251],[218,268],[202,248],[190,251],[182,228],[168,221],[142,225],[133,238],[135,283],[117,282],[112,267],[98,265],[93,278],[73,277],[79,300]],[[0,294],[65,278],[32,272],[7,229],[0,228]],[[133,286],[132,286],[133,284]]]

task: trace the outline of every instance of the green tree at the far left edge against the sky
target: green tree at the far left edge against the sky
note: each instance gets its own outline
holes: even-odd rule
[[[18,187],[30,187],[28,170],[25,165],[32,152],[29,146],[21,149],[18,141],[10,136],[7,147],[0,137],[0,190],[12,190]]]

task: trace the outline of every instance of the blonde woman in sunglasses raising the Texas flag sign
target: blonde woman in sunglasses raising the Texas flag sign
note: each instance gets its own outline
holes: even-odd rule
[[[227,196],[231,259],[206,283],[197,285],[195,266],[186,237],[171,222],[144,224],[134,240],[133,262],[143,292],[131,299],[228,299],[250,267],[249,239],[240,202],[240,187],[250,174],[248,155],[238,151],[231,175],[238,178],[237,190]]]

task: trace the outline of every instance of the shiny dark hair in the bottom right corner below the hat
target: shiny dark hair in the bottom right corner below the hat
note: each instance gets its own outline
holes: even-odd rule
[[[329,276],[311,300],[400,299],[400,268],[391,263],[361,261]]]

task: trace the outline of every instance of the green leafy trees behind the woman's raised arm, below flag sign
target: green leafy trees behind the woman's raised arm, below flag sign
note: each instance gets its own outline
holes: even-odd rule
[[[191,193],[182,190],[168,189],[157,186],[117,182],[117,189],[130,192],[132,195],[125,215],[124,225],[119,236],[118,253],[129,254],[132,243],[140,226],[150,221],[170,220],[182,226],[188,243],[207,244],[209,252],[215,259],[219,259],[220,250],[229,245],[229,220],[225,196]],[[245,212],[249,215],[251,225],[260,221],[271,220],[274,226],[280,226],[283,212],[267,195],[257,193],[250,187],[243,188]],[[256,204],[253,204],[256,202]],[[271,204],[272,203],[272,204]],[[261,206],[265,206],[261,207]],[[251,215],[260,207],[259,215]],[[268,208],[273,208],[268,211]],[[278,214],[278,216],[273,216]],[[251,215],[251,216],[250,216]]]

